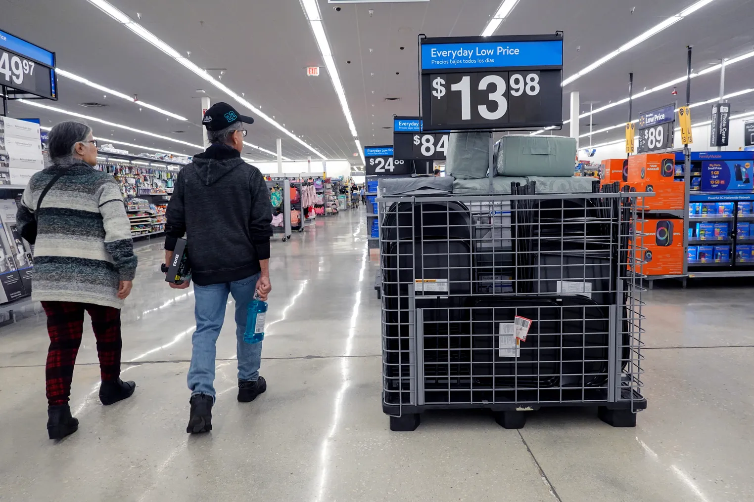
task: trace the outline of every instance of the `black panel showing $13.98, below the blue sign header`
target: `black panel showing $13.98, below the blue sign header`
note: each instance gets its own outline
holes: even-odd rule
[[[562,122],[560,70],[422,75],[426,129],[535,127]]]

